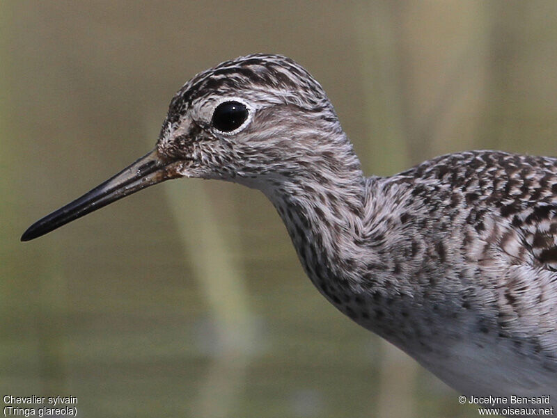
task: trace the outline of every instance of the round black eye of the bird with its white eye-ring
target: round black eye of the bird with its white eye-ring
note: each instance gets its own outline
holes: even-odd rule
[[[234,135],[251,120],[251,106],[239,97],[223,97],[214,106],[211,126],[222,134]]]

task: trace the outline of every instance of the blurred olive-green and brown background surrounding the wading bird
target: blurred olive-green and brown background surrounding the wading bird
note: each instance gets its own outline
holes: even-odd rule
[[[366,172],[557,154],[555,1],[2,1],[0,392],[81,417],[474,417],[329,305],[262,194],[168,182],[30,243],[145,154],[196,72],[285,54]]]

